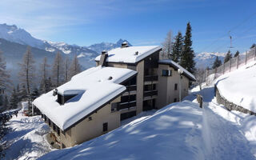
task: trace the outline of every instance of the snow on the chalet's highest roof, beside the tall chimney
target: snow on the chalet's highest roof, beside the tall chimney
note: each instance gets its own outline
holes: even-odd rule
[[[123,62],[123,63],[135,63],[146,58],[150,54],[153,54],[157,50],[161,50],[160,46],[129,46],[124,48],[116,48],[108,51],[108,58],[106,62]],[[101,55],[95,58],[95,61],[99,61]]]

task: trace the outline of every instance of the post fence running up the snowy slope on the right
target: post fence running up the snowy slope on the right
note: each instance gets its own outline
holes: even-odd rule
[[[246,51],[246,54],[238,55],[237,57],[231,58],[230,61],[223,63],[222,66],[218,66],[215,69],[206,70],[206,78],[208,78],[208,76],[211,74],[214,74],[214,79],[218,78],[222,74],[237,70],[239,67],[245,66],[248,62],[252,61],[256,61],[255,47],[250,51]]]

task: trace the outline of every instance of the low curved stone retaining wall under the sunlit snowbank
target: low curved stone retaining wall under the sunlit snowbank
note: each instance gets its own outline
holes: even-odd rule
[[[214,89],[215,89],[215,97],[217,99],[218,104],[224,105],[227,110],[238,110],[245,114],[256,115],[256,113],[254,113],[250,110],[246,110],[242,106],[238,106],[238,105],[234,104],[233,102],[227,101],[226,98],[223,98],[222,95],[219,93],[217,86],[215,86]]]

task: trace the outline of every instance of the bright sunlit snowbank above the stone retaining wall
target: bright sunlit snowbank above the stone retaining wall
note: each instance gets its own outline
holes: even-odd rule
[[[256,112],[256,62],[215,80],[220,94],[228,101]]]

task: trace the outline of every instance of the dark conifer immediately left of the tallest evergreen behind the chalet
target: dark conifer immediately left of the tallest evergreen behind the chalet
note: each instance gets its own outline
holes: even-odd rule
[[[179,62],[180,57],[182,55],[182,48],[183,48],[183,37],[182,33],[179,31],[177,36],[174,38],[174,45],[173,45],[173,51],[171,54],[171,59],[174,62]]]

